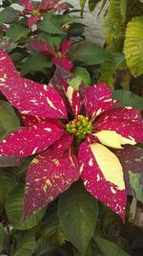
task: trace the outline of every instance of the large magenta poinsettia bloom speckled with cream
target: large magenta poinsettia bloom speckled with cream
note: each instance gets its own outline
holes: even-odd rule
[[[6,59],[4,64],[7,65]],[[12,65],[10,68],[13,71]],[[6,67],[1,68],[2,93],[20,112],[27,106],[33,117],[30,116],[29,122],[29,116],[25,115],[27,128],[13,131],[0,143],[0,155],[31,155],[41,151],[33,158],[28,170],[24,219],[67,190],[80,175],[92,196],[106,203],[124,220],[126,189],[123,170],[109,148],[124,151],[122,145],[143,141],[140,113],[135,109],[113,108],[115,102],[105,83],[86,88],[84,101],[81,101],[79,92],[65,82],[63,101],[55,89],[47,87],[43,90],[46,85],[18,78],[23,99],[30,93],[22,101],[22,95],[15,87],[17,78],[9,78],[9,72],[7,74]],[[14,92],[10,89],[12,86]],[[36,99],[35,107],[30,98]]]

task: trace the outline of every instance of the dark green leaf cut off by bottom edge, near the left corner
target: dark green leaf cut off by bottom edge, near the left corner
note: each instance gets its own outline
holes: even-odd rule
[[[19,232],[13,236],[14,244],[10,247],[10,256],[32,256],[35,246],[33,230]]]

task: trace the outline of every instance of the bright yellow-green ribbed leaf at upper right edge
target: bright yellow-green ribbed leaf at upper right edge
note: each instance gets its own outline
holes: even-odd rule
[[[133,76],[143,74],[143,16],[134,17],[128,23],[124,53]]]

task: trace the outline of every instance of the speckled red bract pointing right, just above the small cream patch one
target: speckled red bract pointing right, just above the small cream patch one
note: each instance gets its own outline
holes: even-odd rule
[[[95,122],[98,130],[114,130],[123,138],[134,144],[143,142],[143,120],[138,110],[129,108],[112,108],[103,113]],[[128,144],[128,142],[127,142]]]

